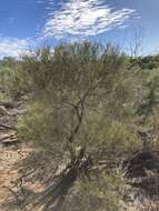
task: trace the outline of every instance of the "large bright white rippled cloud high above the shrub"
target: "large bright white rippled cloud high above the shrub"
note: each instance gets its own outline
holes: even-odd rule
[[[97,36],[117,27],[125,27],[130,17],[136,14],[132,9],[115,10],[101,0],[69,0],[56,11],[50,0],[49,18],[43,29],[43,38],[67,37],[87,38]]]

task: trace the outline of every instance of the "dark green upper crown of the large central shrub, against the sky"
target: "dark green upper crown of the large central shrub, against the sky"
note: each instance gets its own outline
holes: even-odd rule
[[[68,88],[76,91],[96,84],[108,72],[117,72],[123,62],[123,54],[115,48],[101,50],[98,44],[85,42],[57,47],[53,53],[49,48],[40,49],[23,57],[22,68],[37,91]]]

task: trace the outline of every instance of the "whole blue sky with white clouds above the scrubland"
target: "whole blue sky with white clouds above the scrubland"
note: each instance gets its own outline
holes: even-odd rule
[[[0,0],[0,57],[82,40],[156,53],[158,11],[159,0]]]

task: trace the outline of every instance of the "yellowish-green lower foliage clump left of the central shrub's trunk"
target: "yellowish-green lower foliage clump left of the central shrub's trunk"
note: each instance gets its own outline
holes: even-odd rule
[[[19,138],[23,142],[30,141],[36,148],[47,149],[58,157],[63,152],[64,145],[62,133],[59,133],[56,128],[58,119],[56,122],[54,120],[51,110],[46,110],[38,102],[30,103],[27,112],[19,119]]]

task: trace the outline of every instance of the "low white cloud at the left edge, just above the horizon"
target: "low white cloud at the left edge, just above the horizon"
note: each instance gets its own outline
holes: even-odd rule
[[[30,39],[0,37],[0,57],[19,57],[26,53],[32,46]]]

